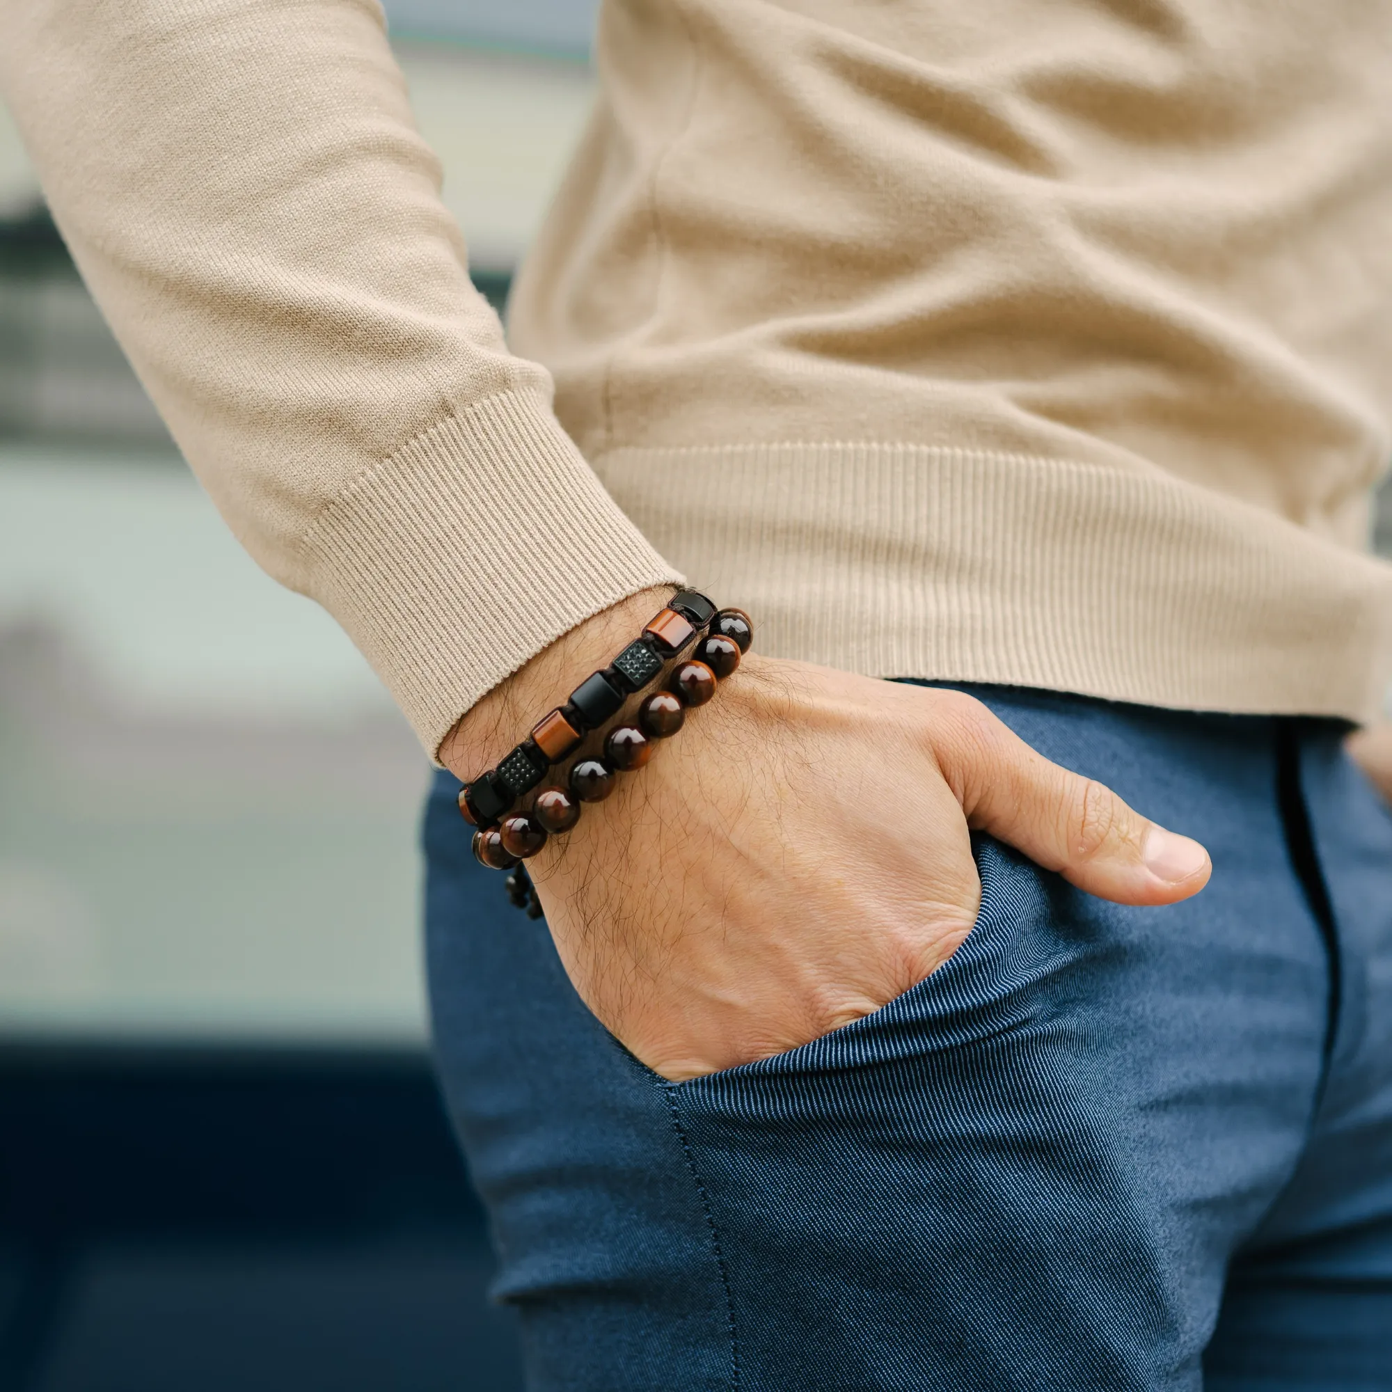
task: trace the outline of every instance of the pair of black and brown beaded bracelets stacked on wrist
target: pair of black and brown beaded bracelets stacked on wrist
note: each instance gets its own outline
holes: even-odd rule
[[[619,773],[642,768],[656,741],[682,728],[686,707],[704,706],[715,695],[718,682],[749,651],[753,636],[753,625],[742,610],[717,611],[704,594],[678,590],[608,667],[592,672],[496,768],[459,791],[459,812],[476,828],[473,855],[493,870],[512,871],[508,895],[514,905],[540,917],[541,905],[522,862],[535,856],[550,837],[569,831],[580,820],[580,803],[603,802],[614,791]],[[693,649],[692,656],[678,661],[688,649]],[[608,729],[603,756],[578,759],[565,786],[544,788],[530,809],[514,812],[551,767],[565,763],[589,736],[604,729],[629,696],[668,670],[667,688],[643,702],[638,724]]]

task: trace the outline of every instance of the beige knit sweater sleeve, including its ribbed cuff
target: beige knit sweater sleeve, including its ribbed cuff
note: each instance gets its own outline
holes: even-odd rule
[[[25,0],[4,29],[54,219],[185,458],[430,753],[679,579],[470,285],[376,0]]]

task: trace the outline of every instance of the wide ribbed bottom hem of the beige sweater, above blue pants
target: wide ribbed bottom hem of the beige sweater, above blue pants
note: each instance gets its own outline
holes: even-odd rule
[[[1158,470],[908,443],[594,466],[768,654],[1199,711],[1384,702],[1392,567]]]

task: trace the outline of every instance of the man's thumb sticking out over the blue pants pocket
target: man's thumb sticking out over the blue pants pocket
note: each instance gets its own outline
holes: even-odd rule
[[[1175,903],[1212,873],[1208,852],[1129,807],[1105,784],[1061,768],[980,702],[935,731],[938,767],[967,824],[1116,903]]]

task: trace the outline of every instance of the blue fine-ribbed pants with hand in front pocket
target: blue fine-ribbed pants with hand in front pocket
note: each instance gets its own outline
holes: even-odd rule
[[[974,695],[1210,887],[1119,908],[983,838],[944,967],[679,1084],[440,777],[436,1048],[532,1388],[1392,1389],[1392,814],[1334,722]]]

